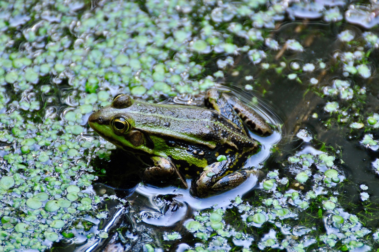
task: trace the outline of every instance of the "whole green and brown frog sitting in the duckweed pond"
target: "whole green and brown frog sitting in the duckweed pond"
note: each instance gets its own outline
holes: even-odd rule
[[[88,123],[122,150],[148,157],[150,167],[139,171],[143,180],[174,180],[188,188],[185,178],[195,177],[191,193],[207,197],[256,173],[240,169],[260,150],[247,129],[263,136],[272,129],[227,92],[208,90],[205,106],[154,104],[120,94],[92,113]]]

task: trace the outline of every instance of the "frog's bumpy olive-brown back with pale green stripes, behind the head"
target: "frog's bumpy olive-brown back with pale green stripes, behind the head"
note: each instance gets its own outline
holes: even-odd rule
[[[166,141],[202,144],[213,150],[227,147],[238,151],[238,147],[246,147],[254,151],[258,148],[256,141],[215,110],[135,101],[128,113],[134,114],[137,129]]]

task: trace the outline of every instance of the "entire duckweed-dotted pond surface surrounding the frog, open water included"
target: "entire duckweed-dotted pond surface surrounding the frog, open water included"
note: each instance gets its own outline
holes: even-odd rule
[[[0,252],[377,251],[378,12],[0,1]],[[140,183],[87,124],[117,93],[201,105],[216,83],[276,126],[265,175],[223,194]]]

